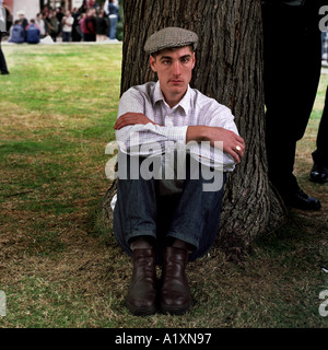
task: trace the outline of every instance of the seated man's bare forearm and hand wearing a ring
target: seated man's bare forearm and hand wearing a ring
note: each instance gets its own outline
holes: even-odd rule
[[[211,145],[215,145],[215,141],[223,142],[223,152],[229,153],[236,163],[241,163],[241,158],[245,152],[245,142],[233,131],[208,126],[189,126],[187,129],[186,142],[189,141],[210,141]]]

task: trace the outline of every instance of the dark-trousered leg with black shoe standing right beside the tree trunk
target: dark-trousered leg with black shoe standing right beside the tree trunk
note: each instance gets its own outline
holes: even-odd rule
[[[286,206],[319,210],[293,174],[321,67],[318,0],[262,1],[266,144],[269,179]]]

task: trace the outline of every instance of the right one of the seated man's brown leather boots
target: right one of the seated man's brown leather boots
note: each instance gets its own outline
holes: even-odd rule
[[[162,271],[161,310],[164,313],[181,315],[191,304],[191,294],[185,273],[188,252],[166,247]]]

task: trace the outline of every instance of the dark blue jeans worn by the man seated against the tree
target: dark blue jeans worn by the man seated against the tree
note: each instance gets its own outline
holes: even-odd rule
[[[128,156],[128,171],[131,158]],[[140,159],[141,163],[143,159]],[[199,165],[200,166],[200,165]],[[223,184],[220,190],[204,191],[204,179],[192,179],[190,166],[186,165],[186,179],[178,195],[160,196],[159,180],[118,179],[117,202],[114,210],[114,235],[122,249],[131,255],[129,242],[138,236],[151,236],[155,241],[155,255],[161,264],[162,250],[167,237],[189,243],[195,247],[190,260],[206,254],[212,246],[220,223]]]

